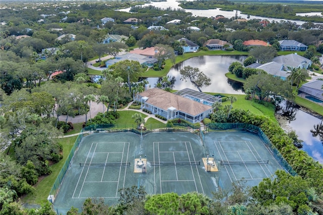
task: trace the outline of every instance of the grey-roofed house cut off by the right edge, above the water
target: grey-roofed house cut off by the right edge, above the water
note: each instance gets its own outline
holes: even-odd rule
[[[322,105],[323,104],[323,81],[315,80],[303,84],[298,89],[298,95],[306,98],[312,102]]]

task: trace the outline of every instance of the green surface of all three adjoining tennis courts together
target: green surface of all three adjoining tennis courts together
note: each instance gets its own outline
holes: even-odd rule
[[[205,171],[206,155],[214,157],[219,172]],[[134,173],[134,160],[140,156],[147,159],[146,173]],[[133,185],[144,186],[148,194],[211,196],[241,179],[248,186],[257,185],[263,178],[273,178],[278,169],[282,168],[259,137],[247,132],[210,132],[204,145],[189,132],[149,133],[142,141],[129,132],[93,133],[83,137],[75,152],[54,207],[64,214],[71,206],[81,208],[88,197],[114,204],[118,190]]]

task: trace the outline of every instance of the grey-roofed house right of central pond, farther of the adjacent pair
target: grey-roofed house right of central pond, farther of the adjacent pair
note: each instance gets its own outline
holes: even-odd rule
[[[292,68],[301,68],[307,69],[312,65],[311,60],[297,55],[297,53],[291,53],[289,55],[282,55],[275,57],[274,62],[284,65],[284,68],[287,70],[288,67]]]

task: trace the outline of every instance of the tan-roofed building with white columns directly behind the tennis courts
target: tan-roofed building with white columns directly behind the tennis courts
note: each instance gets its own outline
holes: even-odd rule
[[[196,123],[212,113],[212,106],[159,88],[145,90],[139,93],[135,99],[142,102],[141,108],[168,120],[181,118]]]

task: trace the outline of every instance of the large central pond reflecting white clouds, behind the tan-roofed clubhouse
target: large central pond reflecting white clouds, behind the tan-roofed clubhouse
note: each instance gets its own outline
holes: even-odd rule
[[[185,54],[184,54],[185,55]],[[180,70],[185,66],[197,67],[205,75],[211,79],[211,85],[202,87],[203,92],[218,92],[218,93],[231,93],[231,94],[244,94],[242,91],[242,84],[228,79],[225,74],[228,73],[230,64],[235,61],[243,62],[245,56],[199,56],[183,61],[173,66],[168,73],[170,77],[175,76],[176,82],[174,89],[181,90],[190,88],[197,90],[190,81],[181,81]],[[158,78],[147,79],[151,87],[154,87]]]

